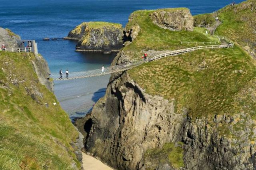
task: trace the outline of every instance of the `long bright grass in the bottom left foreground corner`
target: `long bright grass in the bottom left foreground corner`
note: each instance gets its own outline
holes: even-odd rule
[[[26,134],[0,121],[0,168],[2,170],[20,169],[71,169],[49,146],[32,138],[28,129]]]

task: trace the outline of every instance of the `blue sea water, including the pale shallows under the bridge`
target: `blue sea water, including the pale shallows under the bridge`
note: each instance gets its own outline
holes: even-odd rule
[[[38,52],[50,70],[70,72],[110,65],[115,53],[75,52],[75,42],[62,38],[81,22],[106,21],[123,26],[135,10],[187,7],[192,15],[213,12],[233,0],[0,0],[0,27],[9,28],[22,39],[36,40]],[[237,0],[236,3],[242,2]],[[56,81],[55,95],[70,117],[82,116],[105,93],[109,76],[72,81]]]

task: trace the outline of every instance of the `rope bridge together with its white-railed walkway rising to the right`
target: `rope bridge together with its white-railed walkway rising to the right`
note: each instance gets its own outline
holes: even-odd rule
[[[137,61],[133,61],[133,62],[122,63],[120,65],[106,67],[105,73],[101,73],[102,69],[94,69],[94,70],[88,70],[88,71],[72,72],[68,75],[68,79],[65,79],[65,75],[62,75],[63,79],[59,79],[60,75],[56,74],[56,73],[51,74],[50,78],[52,78],[54,80],[72,80],[72,79],[82,79],[82,78],[87,78],[87,77],[108,75],[108,74],[112,74],[112,73],[126,71],[129,69],[132,69],[133,67],[137,67],[137,66],[141,65],[142,63],[155,61],[155,60],[161,59],[163,57],[167,57],[167,56],[174,56],[174,55],[179,55],[182,53],[189,53],[189,52],[192,52],[192,51],[195,51],[198,49],[230,48],[233,46],[234,46],[234,43],[227,44],[227,45],[206,45],[206,46],[198,46],[198,47],[192,47],[192,48],[186,48],[186,49],[179,49],[179,50],[170,51],[167,53],[162,53],[162,54],[156,55],[156,56],[148,59],[147,61],[143,61],[143,60],[138,61],[137,60]]]

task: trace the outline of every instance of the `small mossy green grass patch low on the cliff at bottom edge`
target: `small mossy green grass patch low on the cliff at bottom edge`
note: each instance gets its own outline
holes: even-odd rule
[[[182,142],[166,143],[162,148],[149,149],[146,151],[145,158],[149,160],[150,170],[154,170],[157,166],[164,163],[171,164],[174,168],[184,167]]]

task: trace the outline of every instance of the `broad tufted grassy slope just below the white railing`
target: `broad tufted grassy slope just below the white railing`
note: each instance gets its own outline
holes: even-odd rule
[[[234,47],[166,57],[128,73],[146,93],[175,99],[178,113],[185,107],[195,118],[236,113],[234,97],[255,78],[256,68],[249,55]]]

